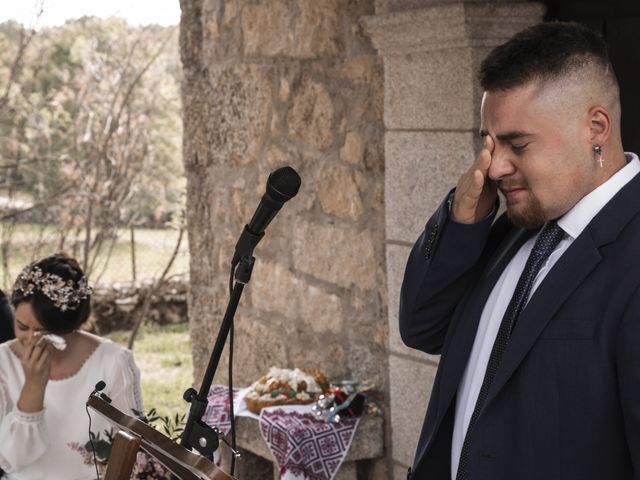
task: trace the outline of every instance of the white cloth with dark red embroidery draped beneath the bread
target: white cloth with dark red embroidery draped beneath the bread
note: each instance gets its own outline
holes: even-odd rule
[[[203,420],[227,434],[230,430],[228,387],[214,385]],[[281,480],[332,480],[347,455],[359,418],[339,423],[316,420],[311,405],[246,408],[246,390],[234,390],[234,413],[258,419],[260,432],[280,467]]]

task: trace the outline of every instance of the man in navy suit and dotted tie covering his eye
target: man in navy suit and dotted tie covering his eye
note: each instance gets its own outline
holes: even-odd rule
[[[606,45],[536,25],[480,81],[483,148],[402,286],[404,342],[441,354],[409,476],[640,480],[640,161]]]

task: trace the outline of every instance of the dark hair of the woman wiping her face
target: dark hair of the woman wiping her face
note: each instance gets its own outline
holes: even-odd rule
[[[72,280],[72,285],[76,287],[84,279],[84,272],[78,262],[65,253],[54,253],[44,257],[29,265],[28,268],[30,271],[40,269],[43,275],[48,273],[57,275],[65,282]],[[71,308],[65,310],[56,306],[54,301],[45,295],[40,288],[25,292],[23,289],[14,287],[11,304],[17,308],[19,304],[24,302],[31,305],[38,322],[47,331],[55,334],[72,332],[86,322],[91,313],[91,295],[89,294],[84,295],[77,303],[72,304]]]

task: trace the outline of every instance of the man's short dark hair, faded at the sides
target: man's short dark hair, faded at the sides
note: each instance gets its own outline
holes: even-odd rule
[[[540,23],[494,48],[480,67],[485,91],[504,91],[533,80],[564,77],[595,64],[617,84],[607,44],[590,28],[573,22]]]

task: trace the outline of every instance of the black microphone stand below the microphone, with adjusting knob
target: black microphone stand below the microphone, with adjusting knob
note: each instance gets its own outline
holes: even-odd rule
[[[260,235],[260,238],[261,237],[262,235]],[[183,395],[183,398],[191,404],[191,407],[189,408],[187,422],[185,424],[184,431],[182,432],[180,445],[185,448],[195,448],[202,455],[209,457],[218,449],[219,431],[217,428],[212,428],[204,423],[202,421],[202,417],[207,409],[207,396],[209,395],[211,383],[213,382],[213,377],[216,373],[216,369],[218,368],[220,357],[222,356],[222,350],[227,342],[229,330],[233,324],[233,318],[236,314],[240,297],[242,296],[242,291],[244,290],[244,286],[249,283],[249,280],[251,279],[251,272],[253,271],[255,258],[249,252],[248,254],[241,256],[238,262],[232,262],[232,268],[236,263],[237,268],[235,269],[234,274],[235,283],[233,290],[231,291],[229,303],[227,304],[227,310],[225,311],[224,318],[222,320],[222,325],[220,325],[220,330],[218,331],[216,343],[213,347],[213,351],[211,352],[209,365],[207,366],[204,378],[202,379],[200,391],[196,392],[194,388],[188,388]],[[235,452],[233,453],[235,454]]]

